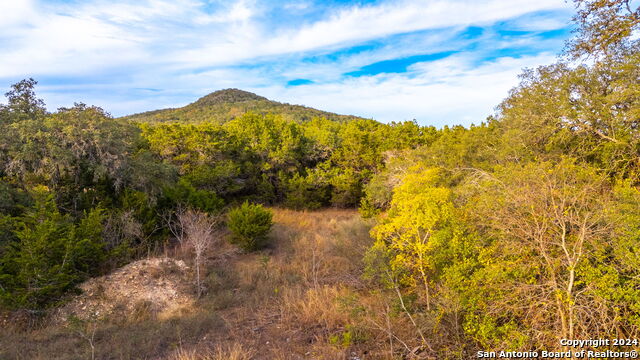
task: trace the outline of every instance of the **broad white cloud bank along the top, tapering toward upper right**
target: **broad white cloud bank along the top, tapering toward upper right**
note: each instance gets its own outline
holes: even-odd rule
[[[4,13],[37,15],[14,35],[20,45],[0,57],[0,77],[25,72],[70,75],[90,70],[93,64],[99,71],[109,63],[123,66],[127,61],[171,63],[181,69],[221,66],[566,6],[558,0],[404,1],[355,6],[296,28],[251,21],[257,10],[245,0],[213,14],[195,0],[101,0],[60,8],[30,0],[3,2],[13,3],[23,5],[2,5],[18,8]],[[100,61],[100,56],[107,58]]]

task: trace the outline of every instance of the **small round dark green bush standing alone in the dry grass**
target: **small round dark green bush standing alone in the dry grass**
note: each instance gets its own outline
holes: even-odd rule
[[[270,211],[262,205],[245,202],[229,211],[228,226],[232,232],[231,242],[245,251],[262,248],[267,242],[267,234],[273,222]]]

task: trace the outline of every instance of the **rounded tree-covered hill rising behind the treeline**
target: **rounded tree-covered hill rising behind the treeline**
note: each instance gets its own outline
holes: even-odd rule
[[[314,117],[324,117],[341,122],[359,119],[356,116],[338,115],[302,105],[280,103],[238,89],[218,90],[181,108],[147,111],[125,116],[123,119],[136,122],[211,121],[224,123],[247,112],[273,113],[297,122],[308,121]]]

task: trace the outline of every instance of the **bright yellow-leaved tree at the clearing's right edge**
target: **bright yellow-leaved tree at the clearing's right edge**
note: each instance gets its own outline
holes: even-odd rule
[[[395,292],[422,347],[429,346],[426,330],[437,331],[433,319],[455,307],[443,310],[438,302],[445,297],[436,293],[465,278],[473,267],[467,261],[473,246],[467,244],[462,214],[445,179],[437,168],[410,168],[394,189],[388,213],[372,230],[375,243],[366,258],[369,274]]]

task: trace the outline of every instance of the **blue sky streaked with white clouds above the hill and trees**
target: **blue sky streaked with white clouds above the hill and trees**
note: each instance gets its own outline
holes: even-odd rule
[[[383,122],[479,124],[571,36],[564,0],[0,0],[0,90],[114,116],[239,88]]]

